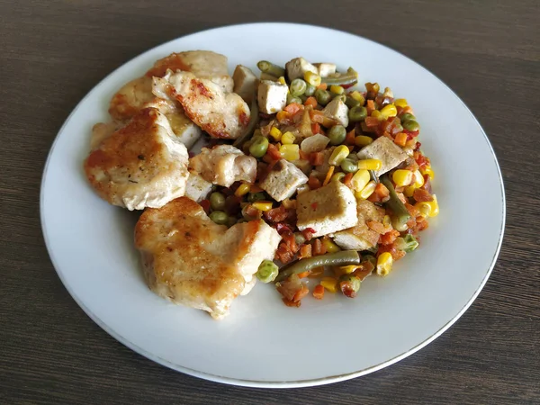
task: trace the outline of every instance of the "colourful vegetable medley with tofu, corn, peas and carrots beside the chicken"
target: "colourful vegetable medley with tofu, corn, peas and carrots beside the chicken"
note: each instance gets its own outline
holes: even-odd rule
[[[389,87],[357,87],[352,67],[303,58],[257,67],[248,130],[233,144],[257,158],[256,182],[214,185],[201,205],[218,224],[262,219],[279,232],[257,278],[275,283],[286,305],[300,306],[307,281],[317,299],[354,298],[365,277],[388,275],[419,247],[438,214],[419,122]]]

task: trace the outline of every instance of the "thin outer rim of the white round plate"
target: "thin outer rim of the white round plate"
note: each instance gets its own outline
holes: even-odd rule
[[[502,213],[502,221],[501,221],[500,235],[499,235],[499,238],[498,238],[497,247],[495,248],[495,251],[494,251],[493,256],[491,258],[491,265],[487,269],[485,275],[483,275],[481,284],[476,288],[476,290],[474,291],[471,298],[464,304],[464,307],[460,311],[457,312],[457,314],[454,316],[454,318],[452,318],[451,320],[448,320],[443,327],[441,327],[440,329],[437,330],[436,333],[431,335],[429,338],[426,338],[424,341],[420,342],[415,347],[411,347],[409,350],[406,350],[405,352],[401,353],[401,355],[394,356],[391,359],[386,360],[386,361],[384,361],[384,362],[382,362],[382,363],[380,363],[378,365],[372,365],[372,366],[369,366],[369,367],[365,367],[362,370],[358,370],[358,371],[355,371],[355,372],[352,372],[352,373],[336,374],[336,375],[329,375],[329,376],[320,377],[320,378],[306,379],[306,380],[296,380],[296,381],[257,381],[257,380],[246,380],[246,379],[241,379],[241,378],[232,378],[232,377],[227,377],[227,376],[219,375],[219,374],[205,373],[205,372],[201,372],[201,371],[198,371],[198,370],[194,370],[194,369],[189,368],[189,367],[184,367],[182,365],[175,365],[175,364],[169,362],[168,360],[166,360],[165,358],[153,355],[153,354],[149,353],[147,350],[143,349],[142,347],[139,347],[139,346],[133,344],[132,342],[130,342],[130,340],[128,338],[122,337],[120,334],[118,334],[117,332],[115,332],[114,330],[109,328],[109,326],[105,322],[103,322],[103,320],[101,320],[92,311],[90,311],[85,306],[85,304],[76,296],[76,293],[74,293],[72,291],[71,287],[67,284],[67,282],[66,282],[66,280],[64,278],[64,275],[62,275],[61,271],[59,270],[59,267],[57,266],[58,262],[56,261],[54,255],[53,255],[53,250],[51,248],[51,242],[49,241],[49,236],[48,236],[47,227],[46,227],[46,223],[45,223],[46,222],[45,214],[44,214],[44,210],[43,210],[43,207],[44,207],[44,194],[45,194],[45,183],[46,183],[46,178],[47,178],[47,174],[48,174],[48,171],[49,171],[49,163],[50,163],[52,154],[54,152],[54,149],[55,149],[55,147],[57,145],[58,139],[59,139],[58,135],[64,130],[64,128],[67,125],[67,122],[71,120],[72,116],[75,115],[75,113],[80,108],[80,106],[83,103],[85,103],[85,100],[93,92],[94,88],[101,85],[103,83],[103,81],[105,81],[109,76],[112,76],[117,70],[119,70],[119,69],[123,68],[124,66],[130,64],[134,59],[142,57],[143,55],[148,54],[149,52],[153,51],[154,49],[157,49],[157,48],[162,47],[162,46],[166,46],[167,44],[175,42],[176,40],[188,38],[190,36],[198,35],[198,34],[201,34],[201,33],[209,33],[211,31],[226,30],[226,29],[233,28],[233,27],[249,28],[249,27],[256,27],[256,26],[261,26],[261,25],[275,25],[275,26],[287,25],[287,26],[296,26],[296,27],[308,27],[308,28],[311,28],[311,29],[326,30],[326,31],[331,31],[331,32],[339,33],[339,34],[347,34],[347,35],[350,35],[350,36],[353,36],[353,37],[356,37],[356,38],[359,38],[359,39],[362,39],[362,40],[372,42],[372,43],[374,43],[374,44],[376,44],[376,45],[378,45],[380,47],[383,47],[385,49],[391,50],[392,52],[395,52],[395,53],[399,54],[402,58],[409,59],[411,62],[413,62],[418,67],[420,67],[422,70],[424,70],[425,73],[427,73],[430,76],[433,76],[434,78],[437,79],[437,81],[439,81],[442,85],[444,85],[446,87],[446,89],[448,89],[450,91],[450,93],[455,97],[456,101],[461,103],[464,106],[465,110],[471,115],[471,117],[473,118],[473,121],[478,126],[478,128],[481,130],[482,135],[483,135],[483,139],[485,140],[485,142],[487,143],[487,145],[488,145],[488,147],[490,149],[491,157],[493,158],[493,161],[494,161],[495,166],[497,168],[497,173],[499,175],[500,193],[501,193],[501,200],[502,200],[501,201],[502,202],[502,212],[501,212]],[[140,356],[144,356],[144,357],[148,358],[148,360],[151,360],[151,361],[153,361],[153,362],[155,362],[155,363],[157,363],[159,365],[164,365],[167,368],[175,370],[176,372],[181,372],[181,373],[184,373],[184,374],[192,375],[193,377],[202,378],[204,380],[212,381],[212,382],[215,382],[215,383],[226,383],[226,384],[229,384],[229,385],[236,385],[236,386],[243,386],[243,387],[250,387],[250,388],[301,388],[301,387],[311,387],[311,386],[317,386],[317,385],[325,385],[325,384],[329,384],[329,383],[339,383],[339,382],[342,382],[342,381],[347,381],[347,380],[350,380],[350,379],[353,379],[353,378],[356,378],[356,377],[360,377],[360,376],[363,376],[363,375],[366,375],[366,374],[371,374],[371,373],[374,373],[376,371],[379,371],[379,370],[383,369],[384,367],[387,367],[389,365],[393,365],[393,364],[401,361],[402,359],[413,355],[414,353],[418,352],[421,348],[428,346],[428,344],[433,342],[436,338],[438,338],[443,333],[445,333],[447,329],[449,329],[452,325],[454,325],[455,322],[457,320],[459,320],[463,316],[464,312],[467,311],[470,308],[470,306],[476,300],[478,295],[482,292],[482,289],[485,286],[485,284],[487,283],[488,279],[490,278],[491,272],[493,271],[493,268],[495,267],[495,265],[497,263],[497,259],[498,259],[499,254],[500,254],[500,248],[502,246],[502,240],[504,238],[504,232],[505,232],[505,229],[506,229],[506,216],[507,216],[507,212],[506,212],[506,193],[505,193],[505,187],[504,187],[504,180],[503,180],[502,173],[501,173],[501,170],[500,170],[499,161],[498,161],[497,156],[495,154],[495,150],[493,149],[493,147],[491,145],[491,142],[490,142],[490,139],[488,138],[485,130],[483,130],[482,125],[480,124],[480,121],[478,121],[478,119],[474,116],[473,112],[469,109],[469,107],[464,103],[464,101],[457,94],[455,94],[455,91],[449,85],[446,85],[446,83],[443,80],[441,80],[437,75],[435,75],[434,73],[429,71],[426,67],[419,64],[419,62],[417,62],[416,60],[414,60],[412,58],[409,58],[408,56],[402,54],[400,51],[398,51],[396,49],[392,49],[391,47],[389,47],[387,45],[384,45],[384,44],[382,44],[382,43],[380,43],[380,42],[378,42],[376,40],[371,40],[369,38],[365,38],[365,37],[363,37],[361,35],[356,35],[355,33],[352,33],[352,32],[349,32],[349,31],[342,31],[342,30],[337,30],[337,29],[334,29],[334,28],[329,28],[329,27],[326,27],[326,26],[313,25],[313,24],[307,24],[307,23],[262,22],[262,23],[239,23],[239,24],[220,25],[220,26],[213,27],[213,28],[206,29],[206,30],[202,30],[202,31],[191,32],[191,33],[188,33],[188,34],[186,34],[184,36],[177,37],[177,38],[172,39],[172,40],[167,40],[166,42],[159,43],[156,46],[139,53],[135,57],[130,58],[126,62],[122,63],[120,67],[115,68],[109,74],[104,76],[98,83],[93,85],[93,87],[88,91],[88,93],[85,94],[85,96],[76,104],[76,107],[69,113],[66,120],[63,122],[62,126],[58,129],[58,132],[57,132],[57,134],[55,136],[55,139],[53,140],[52,145],[49,148],[49,153],[47,155],[47,160],[45,162],[45,166],[43,166],[43,173],[41,175],[41,181],[40,181],[40,225],[41,225],[41,231],[42,231],[42,234],[43,234],[43,239],[44,239],[44,242],[45,242],[45,246],[47,247],[47,252],[49,254],[50,261],[51,261],[52,265],[54,266],[54,269],[55,269],[55,271],[56,271],[56,273],[58,275],[58,278],[62,282],[64,288],[66,288],[67,293],[69,293],[69,295],[73,298],[73,300],[76,302],[76,304],[85,312],[85,314],[91,320],[93,320],[101,329],[103,329],[107,334],[112,336],[112,338],[116,339],[122,345],[124,345],[126,347],[129,347],[131,350],[133,350],[134,352],[136,352]]]

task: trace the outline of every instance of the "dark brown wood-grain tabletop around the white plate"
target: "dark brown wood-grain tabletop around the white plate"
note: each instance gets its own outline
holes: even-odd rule
[[[539,3],[300,3],[0,0],[0,403],[540,403]],[[504,176],[506,236],[471,309],[419,353],[346,383],[247,389],[154,364],[78,308],[41,236],[49,147],[103,76],[166,40],[257,21],[336,27],[414,58],[481,121]]]

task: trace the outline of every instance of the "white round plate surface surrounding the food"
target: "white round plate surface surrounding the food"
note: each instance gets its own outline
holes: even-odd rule
[[[133,247],[137,214],[103,202],[82,171],[90,129],[124,82],[174,51],[211,49],[229,70],[260,59],[303,56],[355,67],[360,82],[390,86],[413,106],[431,157],[440,215],[422,246],[385,279],[370,277],[355,300],[327,294],[285,307],[257,284],[230,316],[169,304],[148,290]],[[276,50],[271,50],[276,49]],[[221,383],[299,387],[368,374],[426,346],[452,325],[486,283],[499,254],[504,189],[490,142],[464,103],[436,76],[371,40],[286,23],[236,25],[167,42],[112,72],[76,106],[50,151],[41,221],[58,275],[76,302],[112,337],[143,356]]]

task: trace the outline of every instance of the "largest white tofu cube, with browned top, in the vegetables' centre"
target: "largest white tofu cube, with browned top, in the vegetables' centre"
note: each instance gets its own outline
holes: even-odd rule
[[[315,229],[315,238],[356,226],[356,198],[341,182],[330,182],[317,190],[298,194],[298,229]]]

